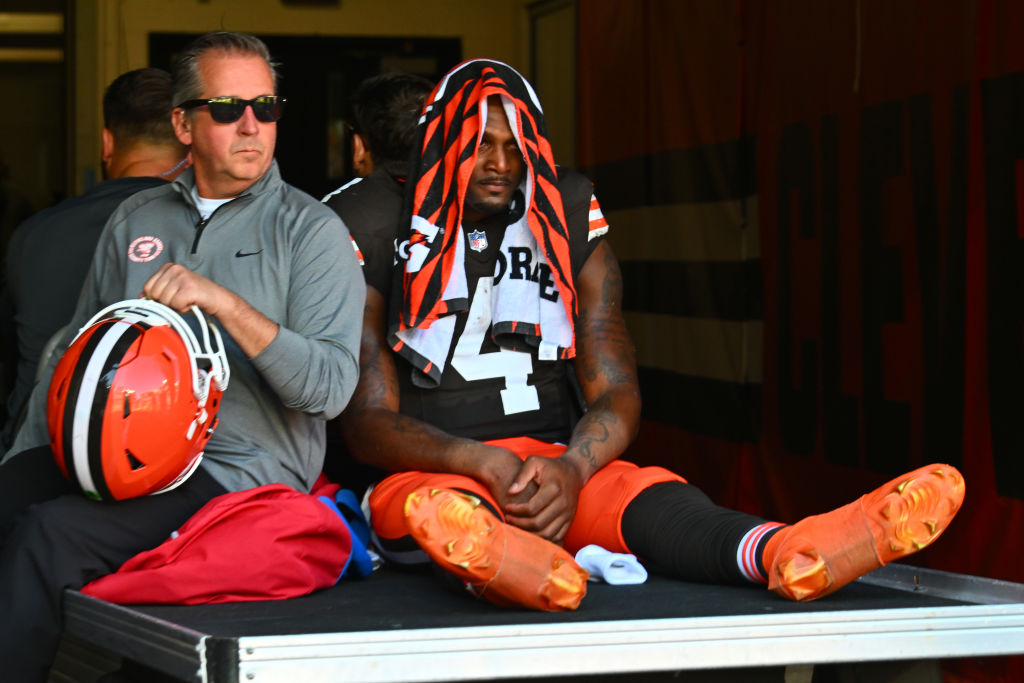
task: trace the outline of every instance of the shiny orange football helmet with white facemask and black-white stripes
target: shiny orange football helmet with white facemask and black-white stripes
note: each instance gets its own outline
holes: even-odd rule
[[[46,401],[50,445],[90,498],[161,494],[199,467],[229,370],[199,308],[128,299],[85,324],[57,362]]]

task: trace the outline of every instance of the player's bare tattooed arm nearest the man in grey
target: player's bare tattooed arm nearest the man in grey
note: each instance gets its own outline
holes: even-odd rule
[[[420,470],[465,474],[484,483],[498,503],[511,499],[509,486],[521,461],[511,451],[453,436],[398,413],[398,377],[387,345],[387,303],[367,286],[359,344],[359,382],[341,415],[341,429],[356,459],[389,472]],[[532,487],[530,487],[532,488]],[[532,493],[524,492],[524,495]]]

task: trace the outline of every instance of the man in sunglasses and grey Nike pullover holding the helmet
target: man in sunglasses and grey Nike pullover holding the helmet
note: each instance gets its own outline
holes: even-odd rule
[[[0,463],[4,680],[45,680],[65,588],[158,546],[220,494],[275,482],[308,492],[322,469],[325,421],[357,377],[366,290],[344,224],[278,172],[273,68],[266,46],[242,34],[182,50],[171,116],[193,168],[115,211],[58,347],[101,307],[140,295],[213,316],[231,379],[202,465],[159,496],[97,503],[72,489],[46,432],[53,355]]]

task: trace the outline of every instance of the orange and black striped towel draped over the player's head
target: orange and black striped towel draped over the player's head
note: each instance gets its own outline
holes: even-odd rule
[[[420,155],[410,177],[409,249],[398,257],[401,283],[392,290],[388,342],[395,352],[440,382],[452,345],[455,315],[468,306],[462,229],[466,187],[486,125],[487,97],[500,95],[523,154],[523,207],[513,207],[502,250],[543,255],[558,296],[542,298],[537,285],[516,291],[505,278],[492,292],[492,335],[505,348],[538,347],[542,360],[575,355],[577,292],[569,263],[565,212],[537,93],[514,69],[473,59],[449,72],[427,98],[417,129]]]

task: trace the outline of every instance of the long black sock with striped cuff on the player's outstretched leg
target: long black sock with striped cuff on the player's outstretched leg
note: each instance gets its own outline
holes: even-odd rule
[[[739,543],[764,520],[715,505],[696,486],[657,483],[640,493],[623,515],[626,545],[654,569],[686,581],[749,583],[736,561]],[[757,548],[758,563],[766,533]]]

